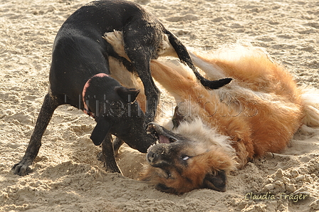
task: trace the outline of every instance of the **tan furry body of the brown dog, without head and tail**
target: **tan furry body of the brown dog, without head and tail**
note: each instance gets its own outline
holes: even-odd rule
[[[242,160],[240,162],[245,164],[247,159],[254,156],[283,150],[302,124],[305,114],[302,92],[283,67],[273,63],[264,53],[257,51],[257,55],[254,55],[253,49],[244,55],[232,53],[240,56],[234,59],[223,55],[221,58],[208,59],[197,55],[206,63],[218,66],[227,77],[234,78],[234,84],[237,85],[229,85],[230,88],[208,91],[194,78],[187,76],[185,72],[189,71],[184,67],[173,69],[171,64],[167,66],[159,61],[152,61],[152,75],[179,100],[183,97],[186,100],[190,96],[193,105],[199,107],[197,115],[206,124],[216,127],[221,134],[232,136],[234,148]],[[184,75],[181,69],[184,69]],[[171,83],[167,79],[177,80]],[[238,86],[249,89],[249,93],[237,89]],[[224,92],[231,93],[232,97],[221,97]],[[198,97],[203,101],[198,102]],[[244,106],[246,111],[241,113],[236,104]],[[241,143],[244,149],[237,147]]]

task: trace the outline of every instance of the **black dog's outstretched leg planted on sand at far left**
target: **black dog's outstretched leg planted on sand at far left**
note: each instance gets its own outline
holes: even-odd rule
[[[38,150],[41,147],[41,138],[43,136],[43,133],[46,131],[48,122],[50,122],[53,112],[54,110],[56,110],[56,107],[58,107],[58,105],[61,104],[58,103],[56,98],[51,97],[50,94],[47,94],[46,97],[44,97],[43,105],[38,115],[38,120],[36,120],[36,127],[34,127],[34,131],[31,135],[26,153],[24,154],[21,161],[19,161],[18,164],[15,164],[12,167],[12,171],[14,171],[14,174],[25,176],[26,174],[31,172],[30,166],[33,165],[33,161],[38,155]]]

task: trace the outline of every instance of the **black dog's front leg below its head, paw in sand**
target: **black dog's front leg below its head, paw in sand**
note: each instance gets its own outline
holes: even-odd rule
[[[115,161],[111,134],[108,134],[102,142],[102,154],[106,171],[121,173]]]

